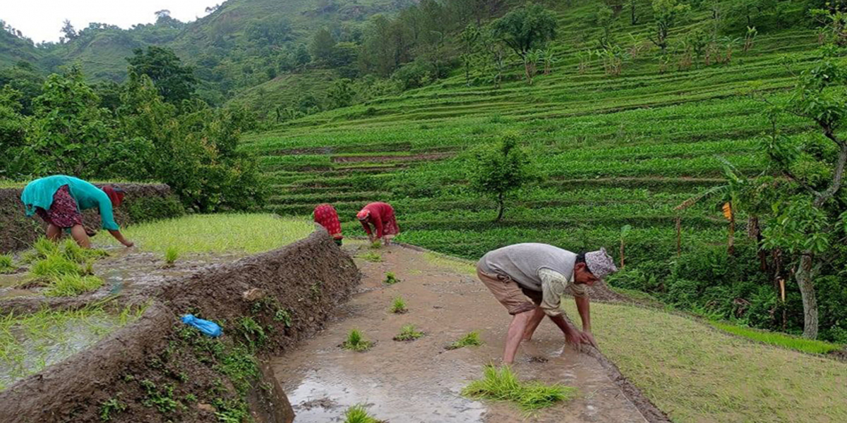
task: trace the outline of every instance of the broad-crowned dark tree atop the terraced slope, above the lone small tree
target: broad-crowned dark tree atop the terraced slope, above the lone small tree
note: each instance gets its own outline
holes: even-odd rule
[[[556,37],[556,15],[537,3],[509,12],[491,24],[494,35],[523,61],[523,69],[528,82],[530,63],[527,53],[537,48],[543,48],[545,43]]]

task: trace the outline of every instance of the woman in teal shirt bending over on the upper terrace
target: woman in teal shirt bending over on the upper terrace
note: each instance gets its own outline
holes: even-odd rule
[[[113,207],[120,206],[123,200],[123,190],[111,185],[105,185],[101,190],[82,179],[65,175],[36,179],[27,184],[20,195],[26,216],[38,214],[47,222],[47,239],[60,239],[63,230],[69,229],[76,243],[84,248],[91,248],[91,241],[82,226],[80,211],[92,208],[99,209],[103,229],[107,229],[121,244],[127,247],[133,245],[114,222]]]

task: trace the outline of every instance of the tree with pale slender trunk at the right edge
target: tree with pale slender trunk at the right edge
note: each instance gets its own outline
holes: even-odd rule
[[[775,200],[762,235],[768,247],[796,257],[794,277],[803,299],[805,338],[817,338],[815,279],[832,258],[833,245],[843,243],[847,231],[847,204],[842,195],[847,139],[841,134],[847,120],[845,84],[847,67],[839,48],[828,45],[822,47],[815,65],[797,76],[786,102],[766,99],[774,119],[767,156],[772,169],[789,184],[774,184],[768,193]],[[811,120],[821,136],[796,144],[776,130],[778,113]]]

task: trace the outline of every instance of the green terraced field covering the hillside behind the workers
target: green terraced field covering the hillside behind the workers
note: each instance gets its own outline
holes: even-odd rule
[[[580,44],[568,41],[588,28],[578,17],[562,14],[563,42],[576,47],[562,49],[553,73],[534,85],[514,81],[498,90],[467,86],[456,75],[250,136],[245,148],[262,157],[274,187],[269,209],[306,215],[331,202],[346,233],[357,233],[355,212],[368,201],[389,201],[400,240],[472,259],[528,240],[611,249],[624,224],[634,227],[631,262],[672,255],[673,207],[721,183],[718,157],[745,173],[761,169],[759,137],[770,124],[750,91],[783,96],[793,81],[783,55],[802,66],[817,38],[811,30],[760,36],[732,63],[665,74],[654,52],[645,52],[623,76],[609,77],[600,63],[577,71]],[[706,24],[679,31],[698,25]],[[643,42],[646,27],[632,29]],[[781,127],[790,136],[812,129],[792,118]],[[514,195],[504,221],[494,224],[493,201],[467,190],[463,154],[507,131],[523,139],[544,182]],[[684,249],[725,242],[726,224],[713,206],[684,212]]]

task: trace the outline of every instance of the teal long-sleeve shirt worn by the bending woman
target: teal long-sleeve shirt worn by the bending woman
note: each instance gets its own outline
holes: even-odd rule
[[[53,205],[53,195],[63,185],[68,185],[70,196],[74,197],[76,206],[80,211],[97,207],[100,210],[102,228],[113,231],[119,230],[118,223],[114,222],[112,201],[108,199],[108,195],[93,184],[73,176],[47,176],[27,184],[24,192],[20,195],[26,216],[35,214],[36,207],[49,210],[50,206]]]

